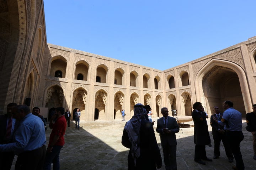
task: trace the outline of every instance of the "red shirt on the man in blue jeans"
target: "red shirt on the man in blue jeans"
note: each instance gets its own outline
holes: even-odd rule
[[[53,130],[52,130],[52,133],[50,134],[49,144],[52,142],[54,135],[57,135],[59,136],[59,139],[54,144],[54,146],[63,146],[65,143],[64,141],[65,131],[66,131],[66,119],[64,116],[61,116],[53,124]]]

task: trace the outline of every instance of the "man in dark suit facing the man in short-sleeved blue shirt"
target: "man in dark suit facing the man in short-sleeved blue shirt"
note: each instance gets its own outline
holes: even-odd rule
[[[214,156],[213,159],[217,159],[220,156],[220,141],[222,141],[226,155],[228,157],[229,162],[233,162],[233,155],[231,148],[228,145],[228,141],[226,139],[226,131],[224,129],[224,126],[219,125],[214,120],[220,120],[222,119],[223,114],[220,113],[219,107],[214,106],[213,111],[215,114],[211,115],[210,117],[210,125],[212,126],[212,135],[214,140]]]

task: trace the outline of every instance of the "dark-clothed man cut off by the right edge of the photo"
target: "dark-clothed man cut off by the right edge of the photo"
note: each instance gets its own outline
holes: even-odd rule
[[[246,114],[246,130],[252,133],[254,159],[256,160],[256,104],[252,105],[253,112]]]

